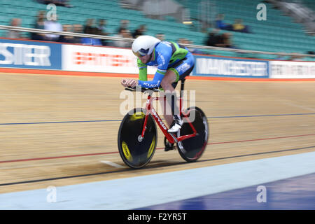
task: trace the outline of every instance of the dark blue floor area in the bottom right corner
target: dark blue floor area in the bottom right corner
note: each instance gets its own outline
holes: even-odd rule
[[[265,200],[261,195],[262,189],[265,190]],[[315,210],[315,173],[142,209]]]

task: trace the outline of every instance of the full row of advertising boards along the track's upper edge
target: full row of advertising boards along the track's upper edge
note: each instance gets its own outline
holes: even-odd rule
[[[71,45],[0,38],[0,69],[36,69],[43,73],[137,75],[137,57],[131,49]],[[50,72],[49,72],[50,71]],[[148,66],[148,74],[156,67]],[[6,71],[10,72],[10,71]],[[31,72],[31,71],[27,71]],[[38,73],[37,72],[37,73]],[[190,76],[226,78],[314,79],[314,62],[276,61],[195,55]]]

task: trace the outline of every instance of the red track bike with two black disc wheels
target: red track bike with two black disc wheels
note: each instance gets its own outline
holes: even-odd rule
[[[141,92],[148,93],[146,109],[137,108],[129,111],[120,123],[118,131],[118,150],[126,165],[139,169],[153,158],[158,140],[155,123],[165,135],[165,146],[172,147],[176,144],[181,158],[195,162],[202,156],[208,142],[208,121],[204,112],[196,106],[182,111],[184,83],[185,79],[181,80],[179,97],[179,108],[184,123],[177,134],[167,132],[167,126],[153,108],[153,100],[165,101],[166,97],[152,97],[153,90],[141,89]],[[136,91],[132,88],[125,90]],[[157,91],[159,90],[155,90]]]

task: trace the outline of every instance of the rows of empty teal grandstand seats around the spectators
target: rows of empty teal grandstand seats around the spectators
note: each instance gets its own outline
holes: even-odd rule
[[[192,18],[197,18],[197,6],[202,0],[178,1],[186,3],[185,7],[190,8]],[[281,15],[279,10],[267,6],[267,20],[258,21],[256,6],[260,0],[212,0],[216,3],[217,13],[225,14],[225,22],[232,24],[235,19],[241,18],[244,25],[248,25],[252,33],[232,32],[232,43],[239,49],[261,50],[270,52],[300,52],[315,51],[310,49],[315,45],[315,37],[307,36],[302,30],[302,25],[294,23],[288,16]],[[309,1],[309,0],[304,0]],[[134,31],[139,25],[146,24],[148,35],[164,33],[165,39],[176,41],[179,38],[188,38],[194,44],[204,45],[208,34],[190,28],[190,25],[183,25],[174,19],[167,17],[166,20],[153,20],[145,18],[139,10],[121,8],[119,1],[111,0],[76,0],[70,1],[73,8],[57,6],[58,20],[62,24],[85,24],[87,18],[105,19],[107,31],[114,35],[120,25],[120,20],[130,20],[129,29]],[[0,25],[9,25],[11,18],[22,18],[23,27],[33,27],[38,10],[45,10],[46,5],[35,0],[1,0]],[[195,22],[198,25],[198,22]],[[211,31],[211,29],[209,29]],[[225,31],[221,31],[225,32]],[[0,36],[5,36],[6,31],[0,29]],[[209,51],[205,51],[209,52]],[[211,51],[214,53],[216,51]],[[220,52],[225,56],[237,56],[235,52]],[[244,55],[244,54],[243,54]],[[272,58],[274,56],[263,56]]]

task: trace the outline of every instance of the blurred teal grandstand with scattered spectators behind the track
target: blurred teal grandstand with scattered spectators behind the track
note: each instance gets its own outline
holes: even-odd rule
[[[314,55],[314,10],[313,0],[1,0],[0,25],[123,38],[146,34],[190,44],[199,54],[311,61],[314,57],[237,50]],[[0,36],[122,48],[132,43],[6,29]]]

